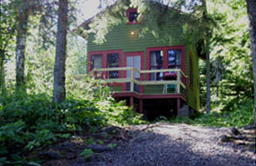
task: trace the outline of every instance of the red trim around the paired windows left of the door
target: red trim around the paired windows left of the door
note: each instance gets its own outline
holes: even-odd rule
[[[107,55],[118,53],[119,55],[119,67],[122,67],[122,50],[101,50],[101,51],[91,51],[88,52],[88,72],[91,71],[91,56],[93,55],[102,55],[102,68],[107,68]],[[120,78],[122,74],[122,71],[118,72],[118,77]],[[106,76],[106,72],[103,72],[103,75]],[[110,86],[120,86],[123,85],[123,83],[110,83]]]

